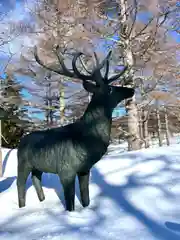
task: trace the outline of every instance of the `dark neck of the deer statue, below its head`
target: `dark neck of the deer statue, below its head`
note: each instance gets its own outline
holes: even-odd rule
[[[92,97],[84,115],[86,134],[100,138],[108,144],[110,140],[113,109],[105,104],[104,99]]]

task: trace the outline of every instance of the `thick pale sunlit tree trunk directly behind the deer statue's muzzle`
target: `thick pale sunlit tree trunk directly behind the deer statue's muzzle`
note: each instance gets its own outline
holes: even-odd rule
[[[128,4],[127,0],[120,0],[121,14],[120,14],[120,39],[121,36],[127,35],[127,22],[128,22]],[[125,37],[124,42],[124,63],[128,64],[131,68],[128,76],[128,86],[132,87],[134,85],[134,71],[132,67],[134,65],[134,59],[132,50],[130,47],[130,37]],[[128,138],[128,149],[129,150],[138,150],[141,148],[141,141],[139,136],[139,120],[138,120],[138,109],[136,106],[136,99],[133,96],[131,99],[126,101],[126,111],[128,113],[128,132],[130,137]]]

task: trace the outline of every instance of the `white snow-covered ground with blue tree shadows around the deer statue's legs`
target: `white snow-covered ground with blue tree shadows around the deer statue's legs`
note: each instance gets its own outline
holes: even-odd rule
[[[56,175],[43,174],[39,202],[31,178],[26,207],[18,208],[16,150],[3,149],[0,240],[179,240],[180,145],[122,152],[112,145],[92,169],[91,204],[83,208],[76,184],[76,211],[64,210]]]

